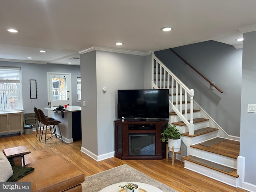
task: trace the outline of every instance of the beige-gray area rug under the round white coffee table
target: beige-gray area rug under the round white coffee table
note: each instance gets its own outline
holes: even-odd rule
[[[85,177],[82,183],[83,192],[98,192],[106,186],[128,181],[137,181],[153,185],[163,192],[177,192],[173,188],[147,176],[126,164]]]

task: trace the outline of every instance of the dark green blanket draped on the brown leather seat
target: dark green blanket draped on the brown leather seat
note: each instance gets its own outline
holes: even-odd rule
[[[30,174],[35,169],[32,167],[22,167],[22,166],[14,166],[13,158],[8,158],[10,164],[12,165],[13,175],[7,180],[8,182],[14,182],[19,180],[20,178]]]

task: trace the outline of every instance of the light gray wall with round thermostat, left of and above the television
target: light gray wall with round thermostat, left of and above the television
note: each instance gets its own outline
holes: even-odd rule
[[[144,88],[144,62],[144,56],[98,50],[81,55],[82,100],[86,101],[83,148],[97,156],[114,152],[117,90]]]

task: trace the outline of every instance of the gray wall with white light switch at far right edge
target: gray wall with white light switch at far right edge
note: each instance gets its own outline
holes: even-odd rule
[[[256,185],[256,113],[247,112],[247,104],[256,104],[256,32],[244,34],[242,67],[240,156],[245,157],[244,181]]]

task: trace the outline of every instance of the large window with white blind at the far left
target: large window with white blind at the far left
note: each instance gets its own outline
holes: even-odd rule
[[[0,67],[0,111],[22,110],[20,67]]]

